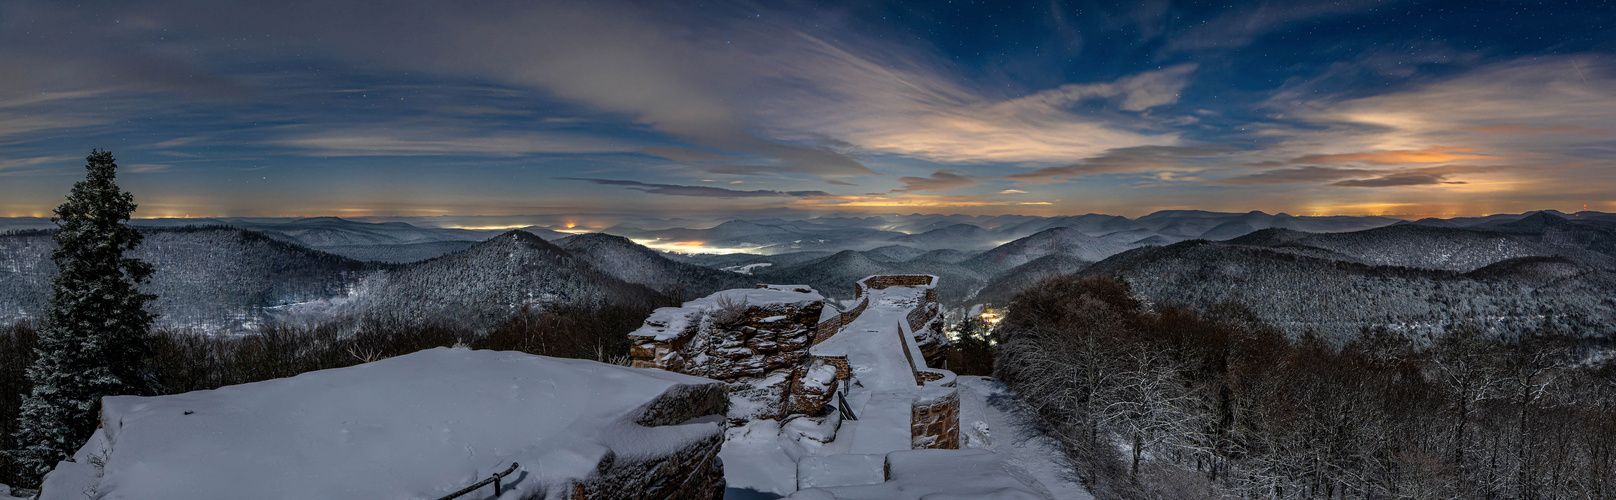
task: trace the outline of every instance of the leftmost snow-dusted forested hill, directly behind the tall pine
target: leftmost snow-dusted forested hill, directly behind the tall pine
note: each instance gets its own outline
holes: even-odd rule
[[[133,257],[155,267],[144,286],[160,325],[238,330],[265,307],[346,294],[375,264],[228,227],[142,228]],[[48,231],[0,235],[0,322],[39,317],[50,299]]]

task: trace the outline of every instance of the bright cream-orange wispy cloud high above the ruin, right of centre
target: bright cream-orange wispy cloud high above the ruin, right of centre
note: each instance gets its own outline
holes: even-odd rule
[[[1149,131],[1136,112],[1175,104],[1194,65],[1170,66],[1110,83],[1067,84],[1015,99],[992,99],[924,68],[876,65],[831,50],[835,79],[816,92],[768,102],[779,128],[829,136],[863,150],[944,163],[1055,163],[1146,144],[1178,144],[1176,133]],[[1076,112],[1086,100],[1112,112]],[[803,110],[808,110],[806,113]]]

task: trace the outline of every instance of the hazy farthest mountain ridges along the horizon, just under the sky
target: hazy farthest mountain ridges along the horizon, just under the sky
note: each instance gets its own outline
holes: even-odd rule
[[[802,220],[785,218],[742,218],[716,223],[708,228],[656,228],[642,230],[619,223],[609,228],[590,231],[633,238],[648,244],[682,243],[696,248],[743,251],[750,254],[790,254],[806,251],[823,251],[827,254],[853,249],[868,251],[890,244],[910,246],[920,251],[953,249],[953,251],[986,251],[1000,243],[1031,236],[1034,233],[1063,227],[1079,233],[1109,239],[1113,243],[1138,244],[1172,244],[1186,239],[1225,241],[1267,228],[1285,228],[1309,233],[1345,233],[1387,225],[1446,225],[1477,227],[1487,223],[1508,223],[1530,217],[1527,214],[1498,214],[1487,217],[1458,218],[1422,218],[1416,222],[1387,217],[1298,217],[1290,214],[1265,212],[1206,212],[1206,210],[1160,210],[1138,218],[1120,215],[1084,214],[1084,215],[866,215],[866,217],[814,217]],[[1574,220],[1616,222],[1616,215],[1601,212],[1561,214],[1548,210],[1556,217]],[[427,220],[427,218],[423,218]],[[643,222],[643,220],[642,220]],[[688,220],[651,222],[654,227]],[[488,239],[504,230],[488,228],[440,228],[410,225],[404,222],[359,222],[338,217],[312,218],[141,218],[136,225],[179,227],[179,225],[229,225],[242,230],[262,231],[265,235],[294,241],[309,248],[347,256],[359,261],[377,262],[414,262],[441,256],[456,249],[469,248],[473,243]],[[430,220],[430,223],[441,223]],[[0,218],[0,231],[16,228],[47,228],[48,218],[13,217]],[[548,227],[524,227],[524,231],[538,235],[548,241],[566,238],[577,230],[558,231]]]

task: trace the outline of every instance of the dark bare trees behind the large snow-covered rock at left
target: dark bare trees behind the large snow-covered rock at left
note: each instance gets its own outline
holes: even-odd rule
[[[154,354],[144,359],[150,393],[183,393],[225,385],[291,377],[346,367],[438,346],[524,351],[625,364],[629,332],[651,312],[646,306],[522,307],[485,332],[449,320],[406,325],[365,319],[309,327],[273,324],[252,335],[218,337],[183,330],[150,333]],[[0,327],[0,450],[15,450],[13,434],[21,400],[31,390],[26,371],[34,364],[36,327]],[[0,484],[27,485],[0,455]]]

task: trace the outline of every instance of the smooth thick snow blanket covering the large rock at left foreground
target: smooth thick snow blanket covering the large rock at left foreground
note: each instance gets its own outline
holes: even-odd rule
[[[42,498],[438,498],[512,463],[503,498],[724,489],[724,383],[666,371],[438,348],[102,405]]]

